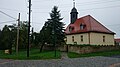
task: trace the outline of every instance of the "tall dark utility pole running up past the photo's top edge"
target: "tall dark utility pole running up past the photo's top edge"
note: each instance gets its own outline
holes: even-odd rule
[[[29,57],[29,45],[30,45],[30,17],[31,17],[31,0],[29,0],[29,21],[28,21],[28,45],[27,45],[27,57]]]

